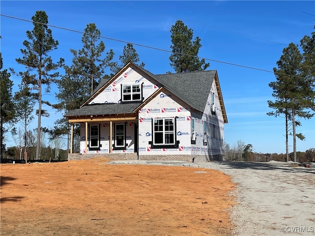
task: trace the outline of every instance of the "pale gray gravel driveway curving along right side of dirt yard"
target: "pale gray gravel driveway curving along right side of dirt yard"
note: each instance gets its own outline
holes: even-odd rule
[[[310,168],[275,162],[111,162],[183,165],[224,172],[237,183],[232,208],[235,236],[315,235],[315,163]],[[293,163],[294,164],[294,163]]]

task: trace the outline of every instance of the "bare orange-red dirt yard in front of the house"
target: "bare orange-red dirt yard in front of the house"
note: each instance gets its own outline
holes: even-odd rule
[[[222,172],[94,158],[1,164],[1,236],[228,236]]]

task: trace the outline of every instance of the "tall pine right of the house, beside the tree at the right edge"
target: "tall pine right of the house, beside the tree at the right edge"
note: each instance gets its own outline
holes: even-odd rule
[[[303,57],[297,45],[290,43],[287,48],[284,48],[283,55],[277,61],[278,69],[274,68],[277,81],[269,84],[274,89],[273,96],[277,98],[275,103],[268,101],[269,107],[277,109],[275,114],[283,113],[285,115],[286,132],[288,132],[287,120],[292,122],[293,159],[295,162],[297,160],[296,137],[301,140],[305,138],[301,133],[296,133],[296,125],[301,125],[296,117],[311,118],[314,116],[307,110],[310,108],[309,94],[312,93],[313,88],[311,80],[304,77],[302,60]]]

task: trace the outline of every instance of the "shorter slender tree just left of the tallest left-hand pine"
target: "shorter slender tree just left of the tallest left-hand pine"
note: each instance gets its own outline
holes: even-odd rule
[[[35,106],[35,100],[32,96],[29,85],[24,80],[22,80],[21,84],[19,85],[19,89],[20,90],[14,94],[16,117],[23,127],[21,130],[19,129],[18,135],[22,137],[19,137],[18,140],[23,141],[21,150],[24,149],[24,156],[26,156],[27,133],[31,122],[34,119],[32,114]],[[22,145],[22,143],[20,143],[20,145]]]

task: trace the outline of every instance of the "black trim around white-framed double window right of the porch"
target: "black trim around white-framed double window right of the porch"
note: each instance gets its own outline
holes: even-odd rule
[[[163,143],[162,144],[155,144],[155,131],[154,131],[154,120],[163,120]],[[174,130],[172,133],[174,134],[174,142],[172,144],[165,144],[165,120],[166,119],[173,119]],[[179,148],[179,140],[177,140],[177,117],[165,117],[165,118],[152,118],[152,140],[149,141],[149,145],[151,148]]]

